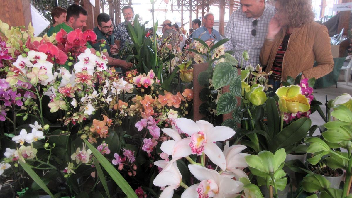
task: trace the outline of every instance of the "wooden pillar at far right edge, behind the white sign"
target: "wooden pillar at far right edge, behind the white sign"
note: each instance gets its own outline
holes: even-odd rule
[[[349,3],[352,2],[352,0],[342,0],[342,3]],[[340,17],[339,17],[339,25],[338,25],[338,33],[341,32],[342,28],[344,28],[344,33],[343,35],[348,36],[347,30],[349,29],[350,25],[350,15],[351,11],[340,11]],[[340,44],[340,57],[344,57],[346,53],[346,48],[348,47],[350,41],[347,39],[346,41],[342,42]]]

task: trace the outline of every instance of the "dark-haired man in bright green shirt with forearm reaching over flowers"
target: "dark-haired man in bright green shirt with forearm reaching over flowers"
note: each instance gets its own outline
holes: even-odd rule
[[[76,4],[70,5],[67,8],[66,22],[57,25],[54,29],[54,32],[57,33],[61,29],[65,30],[67,33],[74,31],[75,29],[83,30],[83,28],[87,26],[86,24],[87,16],[88,16],[88,13],[86,10],[84,10],[82,6],[79,6]],[[90,51],[93,54],[95,54],[96,50],[92,48],[92,46],[89,43],[87,44],[87,48],[89,48]],[[118,66],[125,69],[129,69],[133,66],[132,63],[127,63],[124,60],[120,60],[120,59],[112,58],[108,56],[108,52],[104,52],[104,54],[108,59],[108,65]]]

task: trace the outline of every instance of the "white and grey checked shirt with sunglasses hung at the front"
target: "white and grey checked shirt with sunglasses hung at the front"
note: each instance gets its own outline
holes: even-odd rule
[[[253,27],[252,22],[254,18],[247,18],[246,14],[242,12],[239,7],[227,23],[224,38],[229,38],[230,41],[226,42],[226,51],[234,51],[235,58],[241,63],[242,53],[244,50],[248,51],[249,60],[243,60],[243,67],[251,64],[255,67],[259,62],[260,49],[262,49],[268,32],[268,25],[272,17],[274,17],[274,7],[266,4],[263,16],[258,19],[258,24]],[[257,35],[252,36],[252,29],[257,30]]]

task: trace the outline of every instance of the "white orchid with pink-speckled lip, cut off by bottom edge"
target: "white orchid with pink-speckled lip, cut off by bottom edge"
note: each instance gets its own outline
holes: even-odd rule
[[[200,180],[200,184],[188,187],[181,198],[194,197],[233,197],[243,190],[244,184],[231,178],[222,177],[217,171],[199,165],[188,165],[193,176]],[[231,196],[232,195],[232,196]]]

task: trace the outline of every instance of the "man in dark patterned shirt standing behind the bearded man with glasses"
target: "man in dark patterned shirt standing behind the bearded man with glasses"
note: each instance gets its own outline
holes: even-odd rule
[[[134,16],[133,7],[131,6],[124,6],[121,10],[125,21],[118,24],[114,30],[115,44],[120,51],[124,50],[128,43],[132,43],[131,37],[126,29],[126,25],[127,23],[132,23]]]

